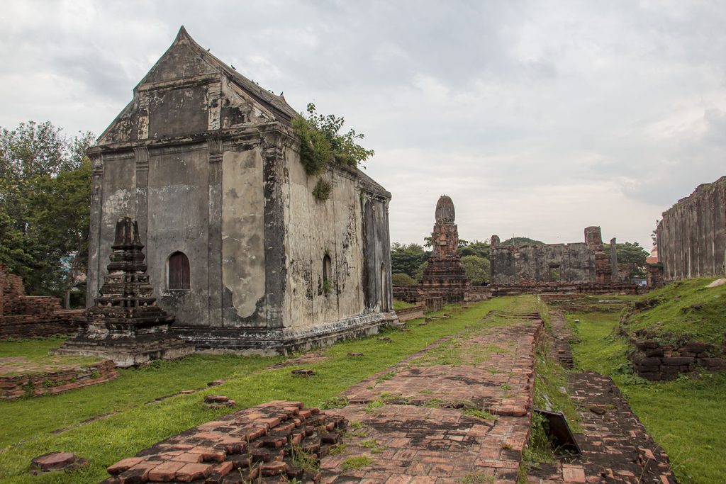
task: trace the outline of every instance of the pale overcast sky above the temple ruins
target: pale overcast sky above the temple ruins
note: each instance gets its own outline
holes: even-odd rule
[[[346,118],[422,243],[439,195],[463,239],[640,242],[726,174],[726,1],[15,1],[0,126],[100,134],[184,25],[298,111]]]

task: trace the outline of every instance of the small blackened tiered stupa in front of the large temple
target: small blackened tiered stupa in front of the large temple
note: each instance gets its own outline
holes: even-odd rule
[[[111,263],[92,308],[74,322],[78,333],[57,355],[97,356],[118,366],[187,356],[194,348],[171,331],[174,316],[156,305],[146,274],[139,227],[130,217],[116,223]]]

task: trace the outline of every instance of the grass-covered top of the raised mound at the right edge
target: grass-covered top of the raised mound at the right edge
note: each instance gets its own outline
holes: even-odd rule
[[[714,280],[685,279],[640,296],[641,301],[658,304],[637,312],[626,310],[625,327],[629,332],[643,330],[675,347],[697,340],[720,348],[726,331],[726,284],[707,288]]]

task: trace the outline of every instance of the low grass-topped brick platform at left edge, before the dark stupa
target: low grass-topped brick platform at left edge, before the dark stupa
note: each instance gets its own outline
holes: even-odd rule
[[[81,366],[36,364],[20,356],[0,358],[0,400],[55,395],[115,378],[118,371],[111,360]]]

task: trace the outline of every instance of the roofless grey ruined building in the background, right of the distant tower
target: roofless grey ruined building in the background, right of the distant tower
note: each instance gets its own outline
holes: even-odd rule
[[[600,227],[584,230],[585,242],[571,244],[501,245],[492,235],[489,260],[492,284],[614,282],[617,274],[615,239],[605,251]]]

